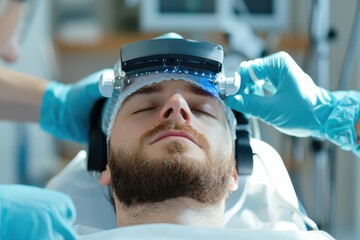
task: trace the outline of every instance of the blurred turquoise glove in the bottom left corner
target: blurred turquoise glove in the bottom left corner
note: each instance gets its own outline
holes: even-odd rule
[[[75,207],[52,190],[0,185],[0,239],[75,239]]]

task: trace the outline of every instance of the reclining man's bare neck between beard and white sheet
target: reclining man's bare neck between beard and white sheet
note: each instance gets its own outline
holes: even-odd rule
[[[119,227],[173,223],[189,226],[224,227],[224,203],[202,204],[189,198],[176,198],[161,203],[125,207],[116,203]]]

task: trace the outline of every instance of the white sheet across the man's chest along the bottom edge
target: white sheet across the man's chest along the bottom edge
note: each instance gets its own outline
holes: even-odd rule
[[[101,231],[86,236],[79,236],[78,239],[331,240],[334,238],[332,238],[329,234],[323,231],[231,230],[205,227],[190,227],[174,224],[146,224]]]

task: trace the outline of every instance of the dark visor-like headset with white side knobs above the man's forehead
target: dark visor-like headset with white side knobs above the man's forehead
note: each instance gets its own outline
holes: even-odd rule
[[[120,50],[114,73],[102,74],[100,92],[111,97],[114,90],[122,91],[139,76],[186,74],[206,78],[224,98],[239,90],[240,77],[238,73],[225,77],[223,58],[223,48],[210,42],[167,38],[128,44]]]

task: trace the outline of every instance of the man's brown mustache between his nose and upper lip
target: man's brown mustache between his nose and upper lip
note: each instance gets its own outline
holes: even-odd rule
[[[153,129],[144,133],[140,137],[140,140],[141,140],[141,142],[145,142],[147,139],[151,139],[156,134],[159,134],[161,132],[168,131],[168,130],[179,130],[179,131],[183,131],[183,132],[191,135],[193,138],[195,138],[197,140],[198,144],[201,147],[209,145],[206,137],[203,134],[199,133],[198,131],[196,131],[194,128],[192,128],[189,125],[181,124],[176,121],[166,121],[166,122],[154,127]]]

